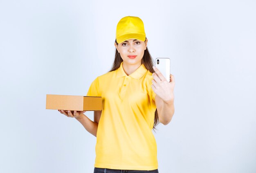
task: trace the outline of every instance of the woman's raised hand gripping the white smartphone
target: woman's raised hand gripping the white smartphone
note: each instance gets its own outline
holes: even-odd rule
[[[164,75],[155,67],[155,72],[152,73],[152,89],[164,102],[170,103],[174,100],[174,76],[170,74],[170,82],[168,82]]]

